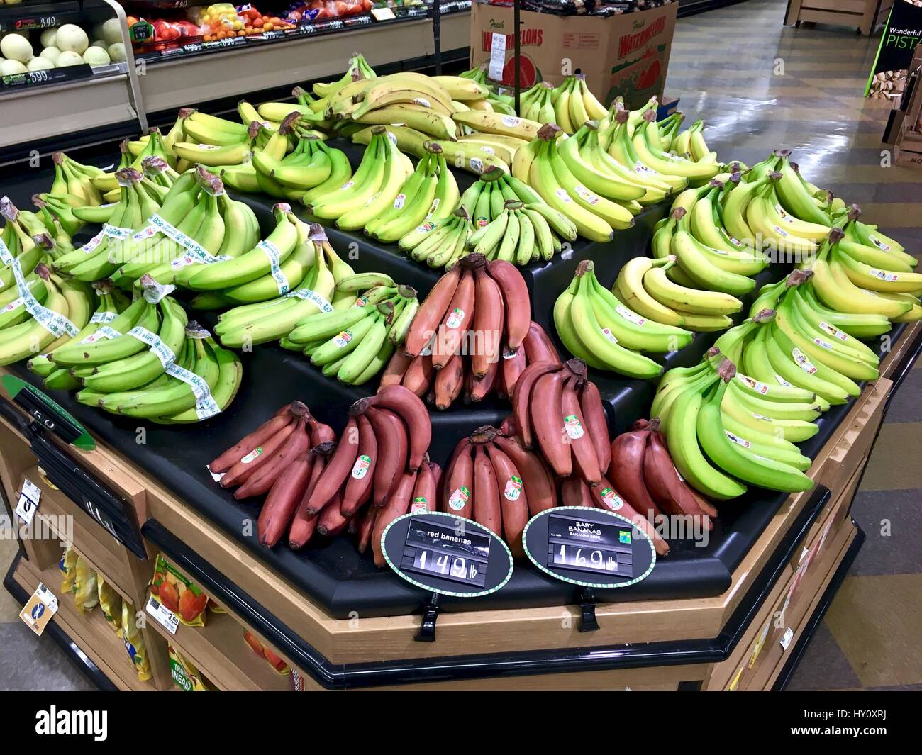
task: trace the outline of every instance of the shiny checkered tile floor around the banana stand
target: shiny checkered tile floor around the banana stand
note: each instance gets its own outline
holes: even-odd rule
[[[748,0],[680,19],[667,93],[703,118],[721,159],[753,164],[776,147],[869,222],[922,250],[922,171],[881,167],[887,109],[865,100],[880,41],[854,29],[787,29],[785,0]],[[868,539],[790,682],[794,690],[922,690],[922,369],[893,399],[853,507]],[[889,526],[889,536],[881,532]],[[15,544],[0,541],[6,569]],[[85,690],[50,638],[37,640],[0,595],[0,690]]]

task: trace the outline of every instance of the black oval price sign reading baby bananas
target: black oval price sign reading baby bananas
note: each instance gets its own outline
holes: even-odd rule
[[[604,509],[547,509],[528,521],[522,542],[542,572],[584,587],[627,587],[656,565],[656,549],[646,533]]]

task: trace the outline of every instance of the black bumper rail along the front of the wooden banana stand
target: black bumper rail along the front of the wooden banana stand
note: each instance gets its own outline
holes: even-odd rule
[[[231,582],[157,520],[148,519],[141,533],[209,596],[230,608],[318,684],[328,690],[348,690],[423,681],[719,663],[733,652],[829,498],[830,491],[817,486],[782,545],[775,549],[772,558],[743,597],[739,608],[714,639],[411,658],[363,664],[331,664],[297,632],[292,631],[253,596]]]

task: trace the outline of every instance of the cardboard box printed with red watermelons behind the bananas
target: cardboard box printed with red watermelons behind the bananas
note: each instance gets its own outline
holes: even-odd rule
[[[519,77],[522,89],[537,81],[554,86],[583,73],[606,105],[621,95],[629,108],[662,97],[678,3],[621,16],[554,16],[523,10]],[[513,9],[476,3],[471,9],[470,65],[490,63],[494,34],[505,38],[502,83],[514,87]]]

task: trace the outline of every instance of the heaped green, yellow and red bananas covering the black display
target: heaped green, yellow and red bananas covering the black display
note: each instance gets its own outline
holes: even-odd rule
[[[711,529],[752,488],[812,488],[801,445],[879,376],[869,339],[922,318],[922,274],[786,150],[720,162],[657,104],[605,108],[576,75],[515,113],[482,68],[379,76],[356,53],[291,101],[183,108],[112,170],[57,153],[35,212],[0,206],[0,363],[162,424],[229,407],[254,349],[301,371],[304,394],[209,466],[268,549],[350,533],[381,567],[387,525],[439,511],[520,557],[528,519],[568,504],[666,556],[660,517]],[[619,256],[667,207],[649,254]],[[686,348],[700,363],[666,370]],[[656,395],[612,438],[623,378]]]

